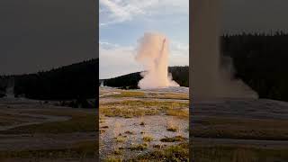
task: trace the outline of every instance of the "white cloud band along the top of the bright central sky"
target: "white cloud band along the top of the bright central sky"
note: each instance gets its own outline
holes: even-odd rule
[[[188,14],[189,0],[100,0],[100,26],[131,21],[141,15]]]

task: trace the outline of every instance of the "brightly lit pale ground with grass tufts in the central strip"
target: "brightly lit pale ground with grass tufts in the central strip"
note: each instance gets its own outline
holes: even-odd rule
[[[165,91],[100,87],[101,160],[137,160],[151,152],[188,142],[188,91],[181,88]],[[175,113],[178,110],[184,113]],[[188,148],[185,152],[188,153]],[[167,160],[165,157],[145,159]]]

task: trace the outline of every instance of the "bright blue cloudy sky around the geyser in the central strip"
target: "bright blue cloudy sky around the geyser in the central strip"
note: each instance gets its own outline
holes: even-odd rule
[[[189,64],[189,0],[100,0],[100,78],[143,70],[137,40],[159,32],[170,40],[170,66]]]

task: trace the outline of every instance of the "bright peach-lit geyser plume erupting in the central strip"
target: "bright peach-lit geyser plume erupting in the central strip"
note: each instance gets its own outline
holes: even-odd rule
[[[136,60],[145,67],[138,84],[141,89],[179,86],[168,74],[168,54],[168,40],[164,35],[145,33],[139,40]]]

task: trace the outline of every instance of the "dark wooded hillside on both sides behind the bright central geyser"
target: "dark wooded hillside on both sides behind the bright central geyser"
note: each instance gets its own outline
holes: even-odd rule
[[[172,74],[173,80],[175,80],[179,85],[186,87],[189,86],[189,67],[168,67],[168,71]],[[131,73],[124,76],[103,79],[103,85],[134,89],[138,88],[138,82],[141,78],[142,76],[140,76],[140,72]]]

